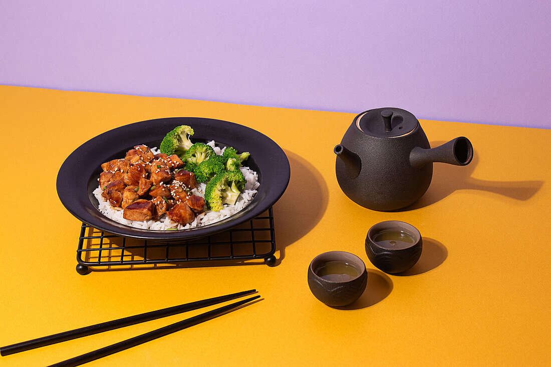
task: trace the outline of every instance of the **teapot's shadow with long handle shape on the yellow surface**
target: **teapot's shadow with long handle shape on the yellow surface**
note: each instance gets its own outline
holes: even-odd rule
[[[431,142],[431,147],[444,142]],[[417,202],[410,206],[398,209],[395,212],[411,211],[428,207],[456,190],[480,190],[493,192],[518,201],[526,201],[536,195],[544,181],[489,181],[471,177],[479,161],[478,154],[474,153],[471,164],[455,167],[447,164],[433,165],[433,180],[429,190]]]

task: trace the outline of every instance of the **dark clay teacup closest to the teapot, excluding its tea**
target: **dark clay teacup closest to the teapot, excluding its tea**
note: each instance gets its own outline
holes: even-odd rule
[[[385,231],[403,232],[413,239],[412,244],[393,247],[375,241],[378,234]],[[372,226],[365,238],[365,252],[369,260],[385,273],[396,274],[406,271],[417,263],[423,251],[423,238],[413,225],[399,220],[386,220]]]

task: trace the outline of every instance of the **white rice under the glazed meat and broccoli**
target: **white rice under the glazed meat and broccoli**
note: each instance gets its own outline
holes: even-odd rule
[[[214,149],[214,153],[218,155],[222,155],[222,153],[224,153],[225,148],[220,149],[215,145],[214,141],[208,142],[207,145],[210,145]],[[156,147],[151,148],[151,150],[153,154],[160,153],[159,150],[156,149]],[[245,176],[245,180],[247,182],[245,183],[244,191],[239,195],[239,197],[237,197],[237,202],[234,205],[224,204],[223,209],[219,212],[214,212],[206,209],[204,213],[198,214],[192,223],[186,225],[174,222],[174,220],[171,220],[166,214],[161,215],[158,220],[127,220],[122,217],[122,208],[112,207],[109,201],[101,196],[101,193],[103,192],[103,190],[101,190],[101,187],[98,186],[98,188],[94,190],[94,196],[96,197],[96,199],[98,199],[98,209],[101,214],[105,215],[109,219],[115,220],[115,222],[124,225],[151,230],[196,228],[202,225],[216,223],[219,220],[228,218],[249,205],[249,203],[252,201],[252,198],[255,197],[255,194],[257,193],[258,186],[260,186],[260,184],[258,183],[258,175],[249,167],[241,167],[240,170],[243,173],[243,176]],[[197,182],[197,188],[194,188],[192,190],[193,195],[201,196],[204,198],[204,190],[206,186],[207,184]]]

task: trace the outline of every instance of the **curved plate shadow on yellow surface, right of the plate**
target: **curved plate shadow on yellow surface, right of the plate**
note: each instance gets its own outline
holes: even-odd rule
[[[327,183],[320,171],[300,155],[285,150],[291,166],[289,186],[274,204],[276,264],[285,258],[285,247],[309,233],[323,217],[329,202]]]

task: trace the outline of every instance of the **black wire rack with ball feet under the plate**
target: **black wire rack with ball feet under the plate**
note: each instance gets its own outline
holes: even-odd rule
[[[207,237],[158,242],[120,237],[83,223],[77,249],[77,272],[208,265],[276,265],[272,208],[250,222]]]

